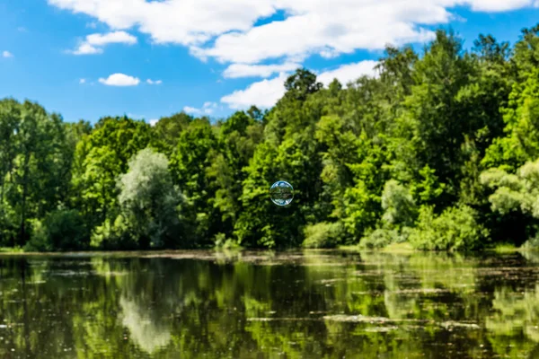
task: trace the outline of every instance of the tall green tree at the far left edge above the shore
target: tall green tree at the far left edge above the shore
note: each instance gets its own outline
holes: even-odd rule
[[[24,245],[31,235],[29,221],[43,217],[65,198],[70,158],[66,131],[59,115],[31,101],[13,100],[0,102],[0,131],[2,232],[10,244]]]

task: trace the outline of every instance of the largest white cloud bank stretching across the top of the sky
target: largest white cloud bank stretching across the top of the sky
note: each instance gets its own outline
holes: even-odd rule
[[[136,28],[155,43],[180,44],[200,58],[258,64],[313,54],[336,57],[358,48],[380,49],[432,39],[426,25],[449,22],[456,5],[478,12],[502,12],[537,5],[538,0],[48,0],[85,13],[117,31]],[[282,21],[264,22],[278,11]],[[92,44],[82,53],[99,53]],[[261,69],[259,69],[261,71]],[[268,71],[268,70],[265,70]],[[267,72],[264,72],[266,74]]]

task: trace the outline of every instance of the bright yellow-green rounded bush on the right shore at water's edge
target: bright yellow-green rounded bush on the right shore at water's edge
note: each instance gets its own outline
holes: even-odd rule
[[[476,221],[469,206],[450,207],[435,216],[430,206],[421,207],[411,245],[419,250],[477,250],[486,245],[489,231]]]

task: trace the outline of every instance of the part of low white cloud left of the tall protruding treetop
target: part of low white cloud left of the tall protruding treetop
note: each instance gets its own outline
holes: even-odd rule
[[[221,99],[231,109],[248,109],[255,105],[261,109],[268,109],[275,105],[285,94],[285,81],[287,74],[279,74],[270,80],[252,83],[245,90],[237,90]]]

